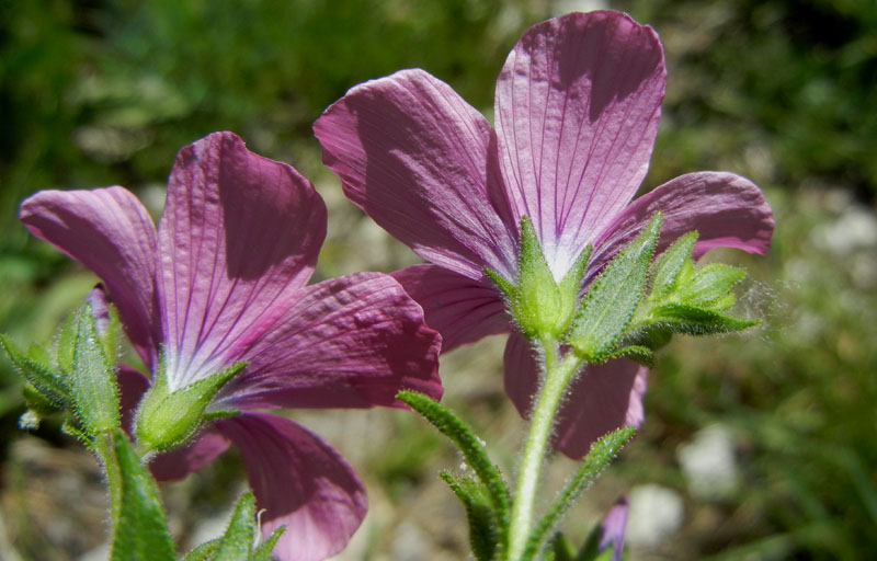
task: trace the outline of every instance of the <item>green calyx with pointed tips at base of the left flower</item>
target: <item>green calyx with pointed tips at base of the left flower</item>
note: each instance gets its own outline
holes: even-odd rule
[[[247,366],[240,362],[197,380],[175,391],[168,390],[168,377],[163,358],[152,387],[146,392],[137,411],[134,434],[145,450],[166,451],[189,440],[206,421],[207,405],[216,393],[231,378]],[[215,412],[218,416],[228,416],[227,411]]]

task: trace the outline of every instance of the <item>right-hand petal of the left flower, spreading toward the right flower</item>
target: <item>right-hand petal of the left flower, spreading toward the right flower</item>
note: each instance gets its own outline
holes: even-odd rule
[[[247,369],[221,392],[230,408],[401,407],[400,389],[435,399],[441,336],[389,275],[358,273],[301,289],[278,322],[236,343]]]

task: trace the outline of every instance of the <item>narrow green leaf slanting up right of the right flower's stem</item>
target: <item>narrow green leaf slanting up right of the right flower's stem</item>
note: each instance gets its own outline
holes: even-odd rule
[[[606,469],[606,466],[618,455],[625,444],[634,437],[636,430],[633,426],[625,426],[608,433],[591,445],[588,456],[576,470],[567,484],[558,494],[548,512],[536,524],[527,539],[526,548],[522,560],[529,561],[546,547],[546,540],[550,531],[560,522],[560,517],[566,514],[573,501]]]

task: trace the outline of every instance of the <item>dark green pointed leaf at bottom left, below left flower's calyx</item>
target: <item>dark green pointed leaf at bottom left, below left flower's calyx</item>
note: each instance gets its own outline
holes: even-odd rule
[[[176,558],[158,486],[122,431],[113,433],[121,484],[112,561],[171,561]],[[111,469],[111,467],[107,467]]]

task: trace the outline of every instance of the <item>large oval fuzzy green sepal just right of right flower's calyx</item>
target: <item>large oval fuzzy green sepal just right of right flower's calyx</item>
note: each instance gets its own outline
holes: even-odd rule
[[[605,362],[624,337],[646,291],[660,231],[661,213],[656,213],[588,289],[568,341],[584,360]]]

